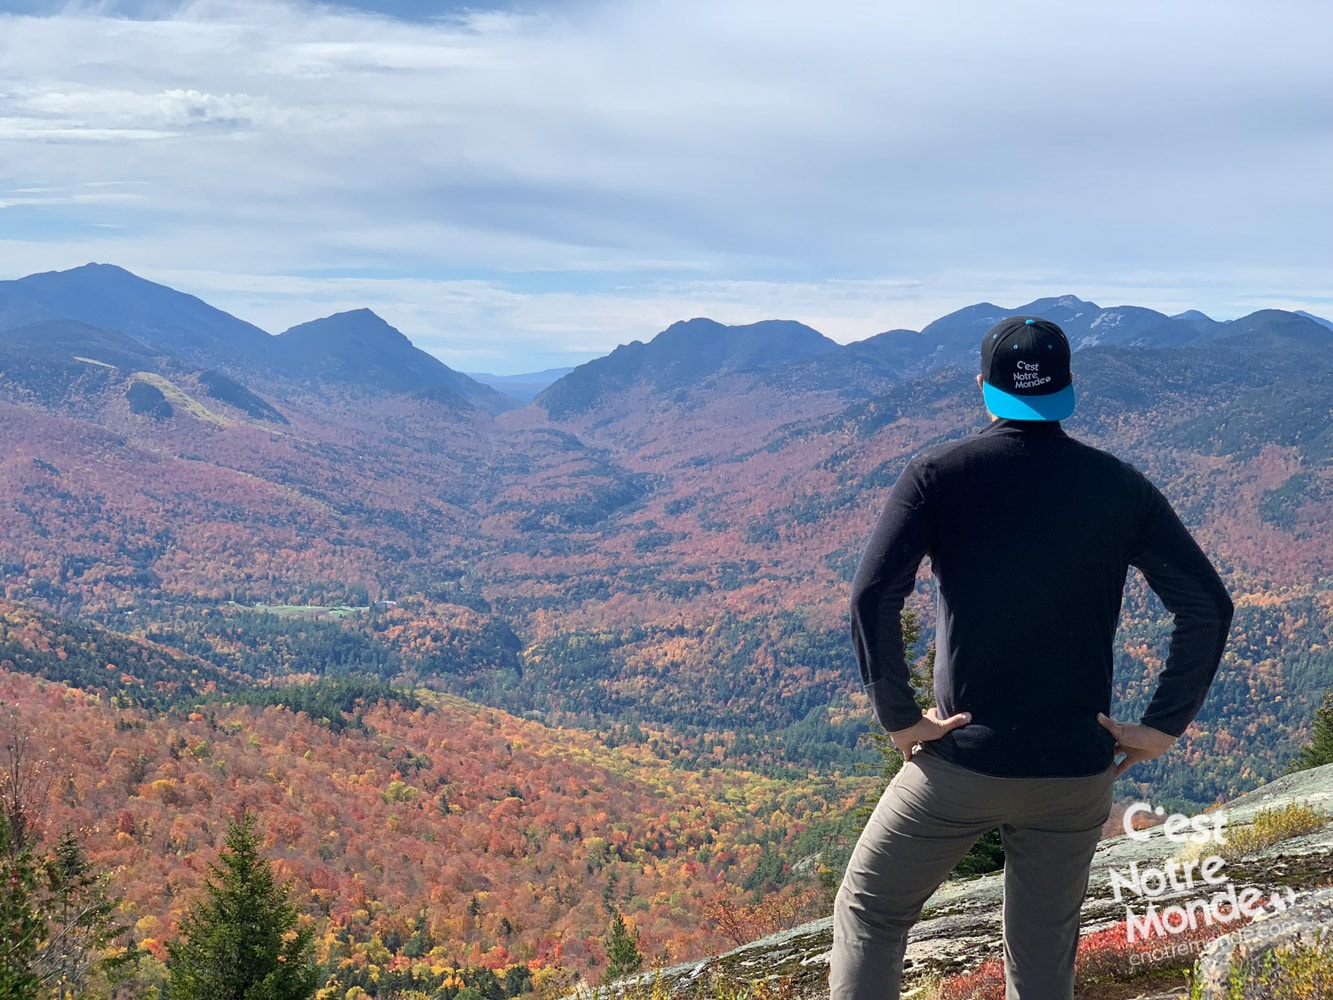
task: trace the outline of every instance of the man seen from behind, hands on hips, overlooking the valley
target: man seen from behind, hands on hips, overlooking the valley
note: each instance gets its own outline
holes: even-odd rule
[[[1232,601],[1208,557],[1137,469],[1060,425],[1074,408],[1069,355],[1060,327],[1040,317],[986,332],[977,383],[993,421],[912,459],[857,569],[861,680],[905,763],[838,889],[832,1000],[897,1000],[908,929],[996,828],[1005,995],[1072,1000],[1078,913],[1112,784],[1170,748],[1221,660]],[[925,557],[938,607],[936,707],[922,715],[900,616]],[[1174,617],[1137,723],[1109,717],[1129,567]]]

